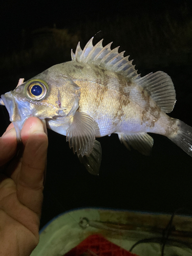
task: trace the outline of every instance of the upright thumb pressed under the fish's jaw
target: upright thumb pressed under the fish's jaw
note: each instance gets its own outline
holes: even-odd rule
[[[22,133],[25,149],[17,181],[17,197],[40,216],[48,138],[39,119],[31,118],[27,121]]]

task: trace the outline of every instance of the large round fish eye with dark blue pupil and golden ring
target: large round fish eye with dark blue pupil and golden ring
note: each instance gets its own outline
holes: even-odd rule
[[[25,94],[29,99],[41,100],[48,92],[48,84],[43,80],[30,80],[26,83]]]

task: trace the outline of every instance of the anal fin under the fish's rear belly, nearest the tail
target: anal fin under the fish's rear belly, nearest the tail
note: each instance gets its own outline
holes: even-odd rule
[[[129,135],[118,134],[118,136],[121,143],[123,143],[129,150],[130,146],[132,146],[141,154],[145,156],[150,155],[153,146],[153,138],[147,133],[135,133]]]

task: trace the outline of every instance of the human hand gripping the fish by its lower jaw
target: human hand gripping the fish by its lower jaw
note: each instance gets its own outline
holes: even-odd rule
[[[48,138],[41,121],[30,117],[17,154],[11,123],[0,137],[0,255],[30,255],[39,240],[39,222]]]

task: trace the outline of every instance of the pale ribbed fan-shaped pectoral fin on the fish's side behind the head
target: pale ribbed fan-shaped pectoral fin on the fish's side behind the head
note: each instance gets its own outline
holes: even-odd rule
[[[67,129],[66,140],[77,156],[89,156],[95,140],[95,124],[92,117],[86,113],[75,112],[72,123]]]

